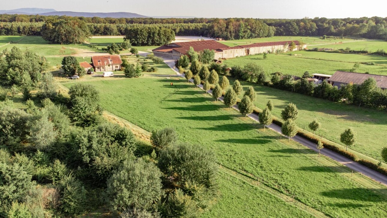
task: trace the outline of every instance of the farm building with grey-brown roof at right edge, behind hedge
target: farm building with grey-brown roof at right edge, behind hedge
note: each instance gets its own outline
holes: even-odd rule
[[[353,84],[361,84],[370,77],[373,77],[376,80],[376,84],[378,87],[382,89],[387,89],[387,78],[374,74],[336,71],[327,81],[329,84],[332,84],[332,86],[337,86],[337,88],[340,89],[342,85],[346,85],[350,82],[352,82]]]

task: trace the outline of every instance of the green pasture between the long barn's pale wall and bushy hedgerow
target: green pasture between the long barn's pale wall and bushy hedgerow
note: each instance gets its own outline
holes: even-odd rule
[[[299,53],[303,54],[310,51],[300,51]],[[297,52],[294,52],[297,54]],[[324,59],[330,58],[330,53],[322,53]],[[341,54],[340,54],[341,55]],[[359,55],[363,56],[363,55]],[[345,58],[349,58],[346,56]],[[354,63],[350,62],[351,59],[348,59],[349,62],[343,62],[342,60],[321,60],[317,58],[302,58],[302,56],[286,55],[286,54],[268,54],[267,59],[263,59],[263,55],[249,55],[237,58],[230,58],[224,60],[223,63],[227,64],[229,67],[235,65],[240,65],[241,67],[245,66],[248,63],[255,63],[260,65],[265,70],[265,73],[269,78],[274,72],[281,72],[283,74],[291,74],[294,76],[302,76],[305,71],[309,71],[311,74],[329,74],[332,75],[337,70],[350,71],[353,68]],[[387,75],[387,68],[381,65],[364,65],[356,70],[360,73],[370,72],[371,74],[378,75]]]

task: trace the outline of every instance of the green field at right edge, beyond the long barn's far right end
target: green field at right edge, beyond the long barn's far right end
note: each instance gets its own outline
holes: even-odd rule
[[[370,52],[375,52],[378,49],[384,49],[385,51],[387,51],[387,41],[367,40],[367,41],[356,41],[356,42],[340,43],[340,44],[308,46],[309,49],[311,48],[345,49],[347,47],[351,48],[351,50],[366,50]]]

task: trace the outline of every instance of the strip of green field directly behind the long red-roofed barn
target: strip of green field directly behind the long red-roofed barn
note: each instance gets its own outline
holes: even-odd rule
[[[352,42],[359,41],[361,39],[320,39],[319,36],[272,36],[266,38],[254,38],[254,39],[236,39],[236,40],[228,40],[228,41],[219,41],[224,45],[228,46],[237,46],[244,44],[252,44],[252,43],[260,43],[260,42],[274,42],[274,41],[301,41],[308,45],[320,45],[320,44],[330,44],[330,43],[338,43],[338,42]]]

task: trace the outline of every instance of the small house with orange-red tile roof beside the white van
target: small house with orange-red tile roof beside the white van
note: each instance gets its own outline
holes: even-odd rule
[[[95,72],[120,70],[122,60],[120,55],[101,55],[91,57]]]

